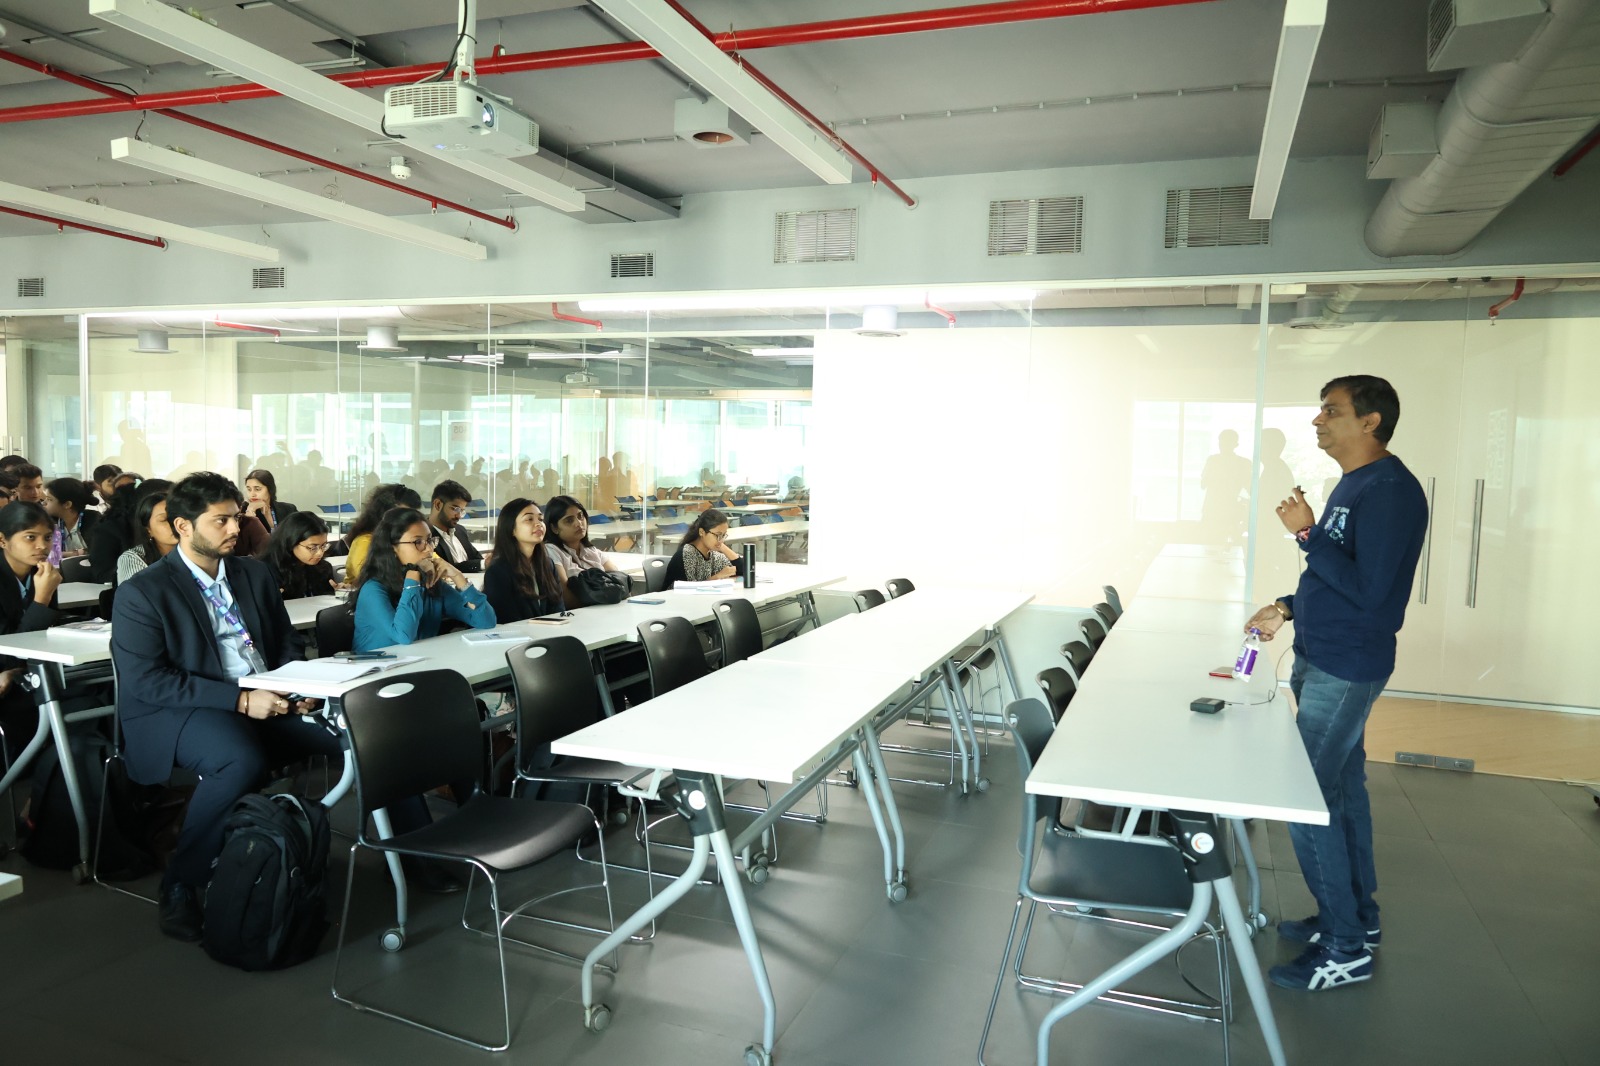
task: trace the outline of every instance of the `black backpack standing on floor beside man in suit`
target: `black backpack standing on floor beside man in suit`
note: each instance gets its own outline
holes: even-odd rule
[[[328,932],[328,815],[298,795],[243,795],[205,895],[203,946],[240,970],[282,970]]]

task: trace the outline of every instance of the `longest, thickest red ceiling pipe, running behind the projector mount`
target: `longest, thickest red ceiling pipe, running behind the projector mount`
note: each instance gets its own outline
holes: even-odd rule
[[[792,26],[766,26],[749,30],[718,34],[714,43],[723,51],[749,51],[752,48],[784,48],[827,40],[859,40],[862,37],[886,37],[891,34],[920,34],[941,29],[970,29],[974,26],[1000,26],[1034,19],[1054,19],[1069,14],[1099,14],[1107,11],[1139,11],[1189,3],[1214,3],[1216,0],[1013,0],[1010,3],[979,3],[962,8],[936,8],[930,11],[906,11],[901,14],[872,14],[856,19],[827,22],[797,22]],[[586,45],[582,48],[555,48],[550,51],[525,51],[507,56],[486,56],[477,61],[482,77],[491,74],[522,74],[526,70],[554,70],[560,67],[589,67],[603,62],[637,62],[659,59],[661,53],[643,42],[618,45]],[[438,72],[437,62],[408,67],[384,67],[382,70],[350,70],[334,74],[331,80],[354,88],[384,88],[408,85]],[[106,115],[120,110],[154,110],[160,107],[195,107],[200,104],[226,104],[237,99],[264,99],[278,96],[262,85],[218,85],[173,93],[147,93],[134,102],[110,99],[78,99],[59,104],[32,104],[27,107],[0,109],[0,122],[34,122],[38,118],[70,118],[77,115]]]

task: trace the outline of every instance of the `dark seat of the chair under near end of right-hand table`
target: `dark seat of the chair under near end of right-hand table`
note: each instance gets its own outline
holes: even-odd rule
[[[1141,908],[1182,912],[1194,898],[1178,848],[1101,837],[1046,832],[1034,860],[1029,888],[1107,909]]]

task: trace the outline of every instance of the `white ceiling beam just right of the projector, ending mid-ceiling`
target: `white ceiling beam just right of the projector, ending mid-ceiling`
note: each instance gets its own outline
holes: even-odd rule
[[[832,186],[848,186],[850,160],[664,0],[595,0],[595,6],[661,53],[691,82],[739,112],[773,144]]]

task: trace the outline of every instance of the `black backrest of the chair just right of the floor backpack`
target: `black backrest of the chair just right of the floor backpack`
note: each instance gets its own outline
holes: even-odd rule
[[[344,720],[363,826],[374,810],[483,773],[478,706],[456,671],[416,671],[352,688]]]

